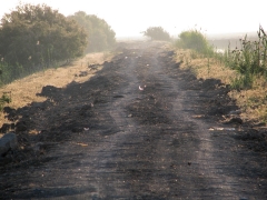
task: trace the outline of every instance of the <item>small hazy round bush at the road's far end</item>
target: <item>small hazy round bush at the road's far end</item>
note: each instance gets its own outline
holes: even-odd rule
[[[165,31],[161,27],[150,27],[142,33],[145,37],[148,37],[151,40],[164,40],[164,41],[170,40],[170,34],[167,31]]]

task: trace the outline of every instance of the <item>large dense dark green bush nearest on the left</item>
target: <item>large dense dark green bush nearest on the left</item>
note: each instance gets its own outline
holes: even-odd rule
[[[46,4],[20,4],[0,24],[1,83],[82,56],[86,31]]]

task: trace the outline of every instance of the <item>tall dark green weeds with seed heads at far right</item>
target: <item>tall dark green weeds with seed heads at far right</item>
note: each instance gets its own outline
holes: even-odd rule
[[[240,49],[230,50],[229,44],[224,56],[225,64],[240,73],[233,80],[234,89],[251,88],[258,77],[267,78],[267,36],[263,27],[259,27],[257,33],[257,41],[249,41],[245,36],[239,39]]]

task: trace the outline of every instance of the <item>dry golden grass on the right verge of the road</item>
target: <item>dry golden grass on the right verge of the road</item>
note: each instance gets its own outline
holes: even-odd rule
[[[176,61],[181,63],[181,69],[190,69],[197,78],[220,79],[221,82],[230,84],[237,76],[235,70],[226,68],[215,59],[202,58],[190,50],[176,50]],[[245,121],[266,122],[267,121],[267,87],[263,78],[255,81],[253,89],[241,91],[230,91],[228,96],[236,100],[241,110],[240,117]]]

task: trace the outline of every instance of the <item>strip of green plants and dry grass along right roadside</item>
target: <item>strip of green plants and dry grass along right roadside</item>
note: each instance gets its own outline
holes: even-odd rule
[[[239,39],[239,47],[217,52],[205,34],[197,29],[184,31],[174,41],[177,62],[191,69],[198,78],[220,79],[231,88],[228,93],[240,108],[241,118],[255,124],[267,121],[267,36],[263,27],[257,40]]]

